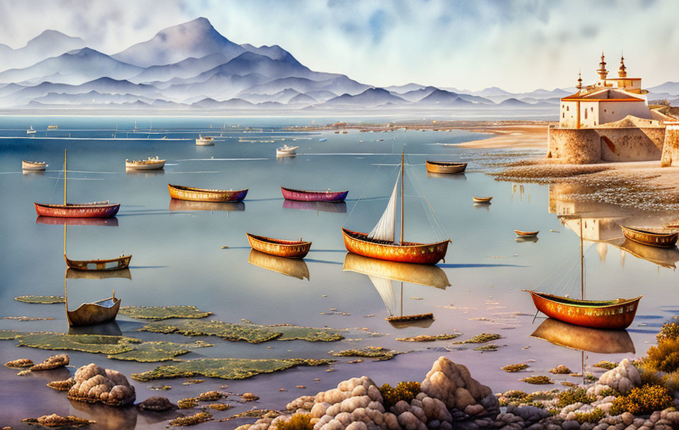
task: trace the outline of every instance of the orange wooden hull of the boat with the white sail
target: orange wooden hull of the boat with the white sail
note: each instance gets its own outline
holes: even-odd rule
[[[435,265],[443,260],[448,250],[448,242],[450,242],[450,240],[445,240],[436,243],[406,242],[405,245],[390,245],[374,242],[368,239],[365,233],[347,228],[342,228],[342,237],[347,251],[354,252],[354,254],[419,265]]]

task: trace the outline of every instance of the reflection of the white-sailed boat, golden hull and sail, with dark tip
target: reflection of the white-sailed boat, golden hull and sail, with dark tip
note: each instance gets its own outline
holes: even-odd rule
[[[393,327],[429,327],[434,314],[403,315],[403,283],[446,289],[450,286],[446,272],[439,267],[391,262],[347,252],[342,270],[366,275],[386,306]],[[399,303],[400,302],[400,303]]]

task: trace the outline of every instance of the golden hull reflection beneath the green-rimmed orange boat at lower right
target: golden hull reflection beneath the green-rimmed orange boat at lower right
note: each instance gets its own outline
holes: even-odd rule
[[[552,318],[542,321],[530,337],[546,340],[559,347],[598,354],[634,354],[634,342],[627,330],[600,330],[571,325]]]

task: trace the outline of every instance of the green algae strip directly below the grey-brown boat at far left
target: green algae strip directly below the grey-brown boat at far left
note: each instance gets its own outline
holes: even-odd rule
[[[120,354],[132,351],[141,340],[133,337],[104,335],[66,335],[66,333],[37,332],[18,337],[18,347],[40,349],[70,349],[95,354]]]

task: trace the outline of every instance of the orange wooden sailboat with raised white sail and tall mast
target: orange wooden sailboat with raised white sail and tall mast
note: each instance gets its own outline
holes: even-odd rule
[[[403,171],[404,171],[405,151],[401,154],[400,175],[396,178],[394,190],[387,204],[387,208],[382,214],[375,228],[370,233],[360,233],[342,227],[344,246],[347,251],[354,254],[364,255],[365,257],[378,258],[393,262],[417,263],[421,265],[435,265],[446,257],[448,243],[450,239],[436,243],[417,243],[405,242],[403,240]],[[400,209],[401,209],[401,240],[396,241],[396,204],[398,184],[400,187]]]

